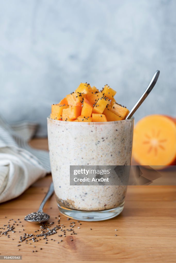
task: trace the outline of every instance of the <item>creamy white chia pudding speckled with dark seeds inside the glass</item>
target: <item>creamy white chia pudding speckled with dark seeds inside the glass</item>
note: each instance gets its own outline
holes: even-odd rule
[[[59,206],[83,211],[123,205],[127,186],[72,186],[70,165],[130,165],[134,119],[65,122],[47,118],[51,173]]]

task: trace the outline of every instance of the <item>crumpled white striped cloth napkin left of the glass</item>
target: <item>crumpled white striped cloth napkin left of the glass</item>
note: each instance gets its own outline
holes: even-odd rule
[[[21,195],[51,171],[48,151],[28,145],[36,128],[36,123],[9,125],[0,116],[0,203]]]

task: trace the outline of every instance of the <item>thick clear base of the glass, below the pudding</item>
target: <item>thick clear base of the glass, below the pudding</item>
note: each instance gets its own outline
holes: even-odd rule
[[[113,218],[119,215],[124,207],[124,203],[116,208],[112,208],[109,210],[101,210],[101,211],[81,211],[74,210],[70,208],[65,208],[58,204],[60,212],[72,219],[80,220],[80,221],[102,221]]]

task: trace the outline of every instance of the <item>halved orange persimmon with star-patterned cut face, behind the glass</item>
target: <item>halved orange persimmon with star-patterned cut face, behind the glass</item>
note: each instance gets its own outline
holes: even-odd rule
[[[176,124],[163,115],[149,115],[134,128],[134,159],[140,165],[163,169],[176,158]]]

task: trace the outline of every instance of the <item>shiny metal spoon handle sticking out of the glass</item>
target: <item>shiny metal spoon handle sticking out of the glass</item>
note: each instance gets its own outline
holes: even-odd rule
[[[142,104],[142,102],[147,98],[147,96],[149,95],[149,93],[151,92],[151,90],[153,89],[153,87],[155,86],[155,84],[158,80],[159,73],[160,73],[160,71],[156,70],[156,72],[153,75],[153,78],[151,79],[148,87],[146,88],[146,90],[144,91],[144,93],[142,94],[140,99],[136,102],[136,104],[134,105],[132,110],[130,110],[129,114],[126,116],[126,120],[130,119],[132,117],[132,115],[136,112],[136,110],[139,108],[139,106]]]

